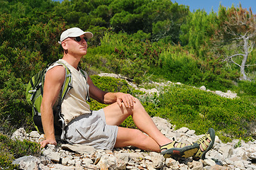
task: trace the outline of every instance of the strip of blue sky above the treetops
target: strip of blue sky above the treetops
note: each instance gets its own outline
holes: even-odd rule
[[[255,0],[172,0],[172,2],[175,1],[179,5],[183,4],[189,6],[191,12],[193,12],[193,10],[196,11],[196,9],[200,8],[204,9],[207,13],[211,12],[211,8],[213,8],[213,11],[218,12],[218,6],[220,6],[220,4],[228,8],[231,7],[232,4],[234,4],[234,6],[237,7],[241,2],[243,8],[247,8],[247,10],[249,11],[249,8],[252,7],[252,13],[256,13]]]

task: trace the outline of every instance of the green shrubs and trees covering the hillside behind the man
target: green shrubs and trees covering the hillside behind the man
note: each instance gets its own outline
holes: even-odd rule
[[[79,27],[94,33],[80,67],[99,88],[133,94],[151,116],[167,118],[177,128],[198,134],[214,128],[225,142],[256,139],[255,23],[243,4],[191,13],[189,6],[169,0],[0,0],[1,134],[33,130],[26,84],[62,57],[60,33]],[[101,72],[122,74],[145,88],[152,88],[145,85],[151,81],[184,85],[145,95],[125,81],[96,76]],[[234,91],[239,98],[191,87],[203,85]],[[91,106],[104,107],[96,101]],[[134,127],[130,119],[122,125]]]

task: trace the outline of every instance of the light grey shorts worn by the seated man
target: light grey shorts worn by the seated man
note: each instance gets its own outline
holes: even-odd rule
[[[113,149],[116,144],[118,126],[106,125],[104,110],[74,118],[66,127],[67,140],[73,144],[84,144],[95,149]]]

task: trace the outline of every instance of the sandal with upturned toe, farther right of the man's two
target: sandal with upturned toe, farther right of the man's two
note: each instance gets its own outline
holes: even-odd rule
[[[210,140],[211,142],[207,141]],[[208,132],[206,132],[206,135],[204,137],[201,137],[199,140],[196,140],[195,143],[201,145],[203,150],[199,148],[199,150],[196,152],[196,154],[193,155],[194,160],[199,160],[199,159],[205,159],[206,158],[206,152],[208,152],[214,144],[215,141],[215,131],[213,128],[208,129]]]

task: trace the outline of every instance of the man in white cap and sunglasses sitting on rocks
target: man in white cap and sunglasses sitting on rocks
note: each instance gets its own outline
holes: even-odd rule
[[[209,129],[193,145],[183,145],[169,140],[157,129],[146,113],[140,101],[130,94],[110,93],[98,89],[90,77],[84,79],[78,64],[87,54],[87,40],[93,37],[90,32],[80,28],[69,28],[60,36],[63,48],[63,62],[72,73],[72,86],[61,106],[65,120],[65,137],[71,143],[91,145],[96,149],[113,149],[114,147],[134,146],[140,149],[161,152],[165,157],[194,157],[204,159],[215,140],[213,129]],[[53,111],[62,84],[65,81],[65,68],[55,64],[45,74],[44,94],[41,105],[45,140],[41,147],[52,144],[55,140]],[[87,86],[88,84],[88,86]],[[109,104],[99,111],[91,111],[87,103],[87,89],[91,98],[100,103]],[[131,115],[137,129],[118,127]],[[144,133],[143,133],[144,132]]]

